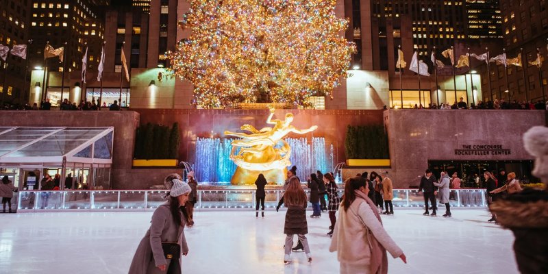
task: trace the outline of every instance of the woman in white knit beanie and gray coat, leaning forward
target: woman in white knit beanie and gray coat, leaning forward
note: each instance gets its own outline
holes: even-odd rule
[[[154,211],[151,226],[137,247],[129,274],[181,273],[181,254],[188,254],[184,204],[191,188],[179,179],[172,182],[168,200]]]

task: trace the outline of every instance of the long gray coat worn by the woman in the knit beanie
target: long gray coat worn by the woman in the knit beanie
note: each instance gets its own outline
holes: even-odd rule
[[[182,214],[181,219],[186,223]],[[169,210],[169,201],[159,206],[152,215],[150,229],[139,243],[137,251],[135,251],[132,265],[129,266],[129,274],[162,273],[156,266],[162,264],[169,266],[171,261],[167,260],[164,256],[162,242],[177,242],[177,238],[179,238],[182,253],[188,252],[188,245],[186,244],[183,229],[184,225],[176,225],[175,221],[173,221],[171,211]],[[173,271],[170,273],[180,274],[181,260],[175,262],[173,266]]]

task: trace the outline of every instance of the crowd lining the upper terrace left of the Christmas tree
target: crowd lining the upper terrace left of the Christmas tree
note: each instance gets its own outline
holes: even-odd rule
[[[2,109],[3,110],[51,110],[51,101],[49,98],[42,100],[40,102],[40,105],[38,103],[33,103],[30,105],[29,103],[25,103],[24,105],[21,104],[13,104],[13,105],[5,105]],[[77,102],[71,102],[69,99],[64,99],[61,102],[61,105],[59,106],[60,110],[101,110],[101,108],[108,108],[109,110],[121,110],[121,108],[125,107],[125,101],[119,104],[118,100],[114,100],[112,103],[106,103],[103,102],[103,105],[101,105],[101,100],[97,99],[97,102],[95,101],[95,97],[92,98],[91,101],[88,101],[87,99],[80,101],[80,103],[77,104]]]

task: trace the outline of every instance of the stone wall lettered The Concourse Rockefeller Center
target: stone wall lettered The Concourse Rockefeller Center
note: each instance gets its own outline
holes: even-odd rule
[[[419,185],[428,160],[534,160],[522,136],[547,119],[544,110],[388,110],[384,123],[389,175],[406,188]]]

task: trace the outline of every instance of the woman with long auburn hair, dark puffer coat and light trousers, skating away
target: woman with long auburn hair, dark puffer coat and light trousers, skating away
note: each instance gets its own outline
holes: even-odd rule
[[[296,177],[292,177],[284,193],[284,204],[286,205],[286,222],[284,225],[284,234],[286,234],[286,245],[284,246],[284,264],[288,264],[291,260],[291,247],[293,246],[293,236],[301,241],[300,245],[295,247],[295,250],[303,250],[306,253],[308,262],[312,262],[308,239],[305,234],[308,234],[308,225],[306,223],[306,193],[301,187],[301,182]]]

